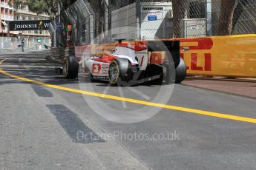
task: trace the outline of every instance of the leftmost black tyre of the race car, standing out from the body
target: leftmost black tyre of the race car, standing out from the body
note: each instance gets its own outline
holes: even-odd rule
[[[69,56],[65,58],[63,62],[63,75],[65,78],[77,78],[79,64],[74,56]]]

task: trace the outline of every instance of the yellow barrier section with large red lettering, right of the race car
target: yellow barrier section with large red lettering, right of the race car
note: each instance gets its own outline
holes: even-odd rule
[[[188,75],[256,78],[256,34],[179,40]]]

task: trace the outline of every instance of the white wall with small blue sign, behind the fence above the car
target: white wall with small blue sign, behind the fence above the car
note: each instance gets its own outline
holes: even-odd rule
[[[141,30],[137,21],[136,3],[112,11],[112,40],[126,38],[135,40],[172,38],[172,4],[171,2],[142,2]],[[153,19],[152,19],[153,18]],[[153,21],[152,21],[153,20]]]

